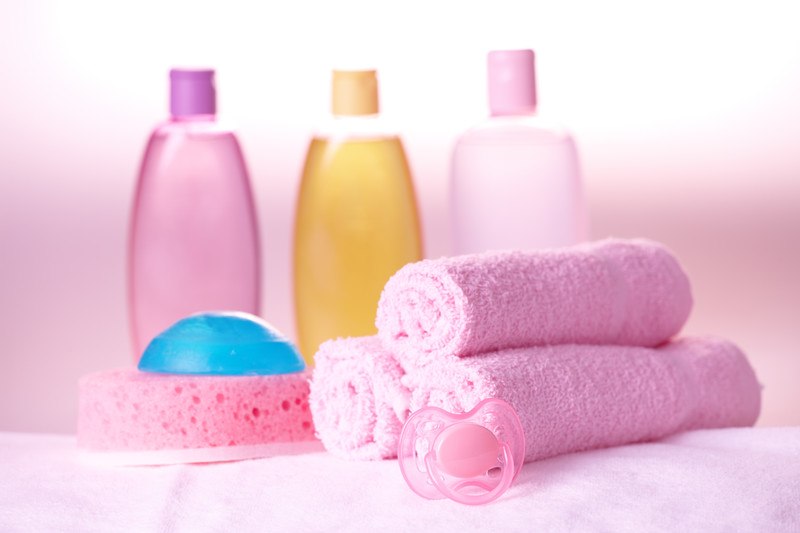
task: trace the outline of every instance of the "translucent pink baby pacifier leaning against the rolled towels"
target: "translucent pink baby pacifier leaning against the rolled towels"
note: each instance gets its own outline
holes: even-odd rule
[[[497,398],[464,414],[424,407],[403,425],[397,457],[420,496],[480,505],[511,486],[522,468],[525,435],[514,408]]]

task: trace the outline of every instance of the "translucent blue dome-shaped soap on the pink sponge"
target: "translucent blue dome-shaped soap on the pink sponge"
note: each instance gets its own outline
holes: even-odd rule
[[[277,329],[248,313],[198,313],[147,345],[139,370],[162,374],[252,376],[305,370],[297,349]]]

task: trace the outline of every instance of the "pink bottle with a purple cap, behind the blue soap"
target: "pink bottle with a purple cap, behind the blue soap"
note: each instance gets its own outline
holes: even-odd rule
[[[216,121],[213,70],[170,71],[136,187],[128,254],[134,357],[200,311],[259,311],[259,245],[242,151]]]

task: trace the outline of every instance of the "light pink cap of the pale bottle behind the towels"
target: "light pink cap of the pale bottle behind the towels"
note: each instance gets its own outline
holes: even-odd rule
[[[536,111],[533,50],[489,52],[489,109],[493,116]]]

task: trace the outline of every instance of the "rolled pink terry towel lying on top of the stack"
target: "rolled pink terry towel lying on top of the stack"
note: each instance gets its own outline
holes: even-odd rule
[[[656,346],[691,306],[689,280],[666,248],[607,239],[406,265],[386,284],[376,325],[409,367],[543,344]]]

